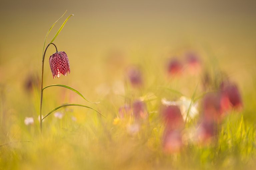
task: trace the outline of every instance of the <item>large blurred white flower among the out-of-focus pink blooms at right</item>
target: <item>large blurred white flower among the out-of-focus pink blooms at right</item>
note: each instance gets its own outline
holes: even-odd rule
[[[188,99],[185,96],[180,97],[180,99],[177,101],[167,101],[166,99],[162,99],[161,102],[163,105],[166,105],[166,106],[170,106],[170,105],[179,106],[180,112],[184,121],[187,119],[187,117],[188,119],[193,119],[196,115],[198,115],[198,109],[197,109],[198,103],[193,103],[191,99]],[[189,113],[188,113],[188,110],[189,110]]]

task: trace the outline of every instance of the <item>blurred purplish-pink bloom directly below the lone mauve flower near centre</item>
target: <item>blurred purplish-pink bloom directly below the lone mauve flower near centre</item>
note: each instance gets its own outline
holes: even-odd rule
[[[136,100],[133,102],[132,111],[136,119],[146,119],[148,117],[146,104],[141,100]]]

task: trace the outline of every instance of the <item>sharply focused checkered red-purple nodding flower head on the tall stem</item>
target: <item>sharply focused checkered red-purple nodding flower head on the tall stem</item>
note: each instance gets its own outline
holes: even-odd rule
[[[49,63],[52,70],[53,78],[59,78],[60,74],[67,76],[67,73],[70,73],[68,56],[64,51],[58,51],[52,54],[50,56]]]

